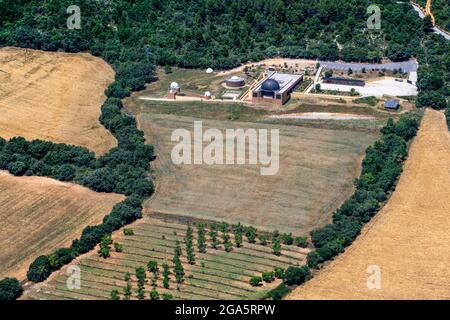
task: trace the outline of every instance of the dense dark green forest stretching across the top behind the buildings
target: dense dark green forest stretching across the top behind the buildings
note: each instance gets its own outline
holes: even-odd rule
[[[444,108],[450,44],[408,2],[379,0],[381,29],[369,30],[369,0],[81,0],[81,29],[69,30],[69,0],[0,0],[0,46],[90,51],[111,63],[124,97],[152,66],[230,68],[284,56],[379,62],[417,57],[419,106]],[[446,84],[447,82],[447,84]]]

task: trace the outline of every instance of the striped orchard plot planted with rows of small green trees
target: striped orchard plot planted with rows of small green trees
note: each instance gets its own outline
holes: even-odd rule
[[[110,293],[116,289],[121,298],[126,285],[124,276],[131,274],[132,295],[137,299],[137,279],[135,270],[144,267],[147,270],[149,261],[156,261],[159,266],[157,291],[160,295],[170,293],[174,299],[258,299],[268,290],[280,284],[275,280],[270,284],[252,287],[249,279],[260,276],[262,272],[273,271],[276,267],[286,268],[305,263],[309,249],[296,246],[282,245],[280,256],[272,253],[270,245],[259,243],[250,244],[245,236],[243,246],[233,247],[226,252],[224,246],[218,249],[211,247],[211,238],[207,235],[206,253],[199,253],[197,248],[197,229],[194,229],[195,264],[190,265],[186,260],[186,249],[183,240],[187,225],[174,221],[155,219],[146,215],[142,220],[130,225],[134,235],[123,235],[116,232],[114,242],[123,245],[123,252],[112,252],[111,257],[103,259],[96,250],[77,259],[80,267],[81,288],[69,289],[67,286],[67,267],[54,274],[43,284],[35,285],[26,292],[24,299],[110,299]],[[232,235],[230,233],[230,235]],[[234,238],[232,237],[234,245]],[[180,241],[182,255],[181,262],[185,270],[184,282],[177,289],[173,269],[173,256],[176,241]],[[222,243],[221,232],[219,241]],[[170,268],[169,288],[163,286],[162,264],[167,263]],[[152,288],[153,274],[146,272],[145,299],[149,299]]]

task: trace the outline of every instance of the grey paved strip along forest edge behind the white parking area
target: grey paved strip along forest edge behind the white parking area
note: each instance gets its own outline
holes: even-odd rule
[[[417,61],[409,60],[403,62],[391,62],[391,63],[383,63],[383,64],[370,64],[370,63],[347,63],[347,62],[330,62],[330,61],[320,61],[320,64],[324,68],[330,69],[340,69],[340,70],[348,70],[352,69],[353,71],[361,71],[363,68],[366,70],[372,69],[386,69],[386,70],[394,70],[394,69],[402,69],[403,72],[416,72],[417,71]]]

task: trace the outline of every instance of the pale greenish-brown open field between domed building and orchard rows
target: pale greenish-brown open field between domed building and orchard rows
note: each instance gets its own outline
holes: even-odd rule
[[[154,111],[146,102],[137,115],[158,155],[153,163],[156,193],[145,204],[147,212],[241,221],[300,235],[330,221],[334,209],[352,193],[361,157],[377,137],[368,132],[209,119],[203,120],[204,130],[280,129],[278,174],[261,176],[259,166],[248,164],[175,166],[171,133],[180,128],[192,131],[194,118]]]

